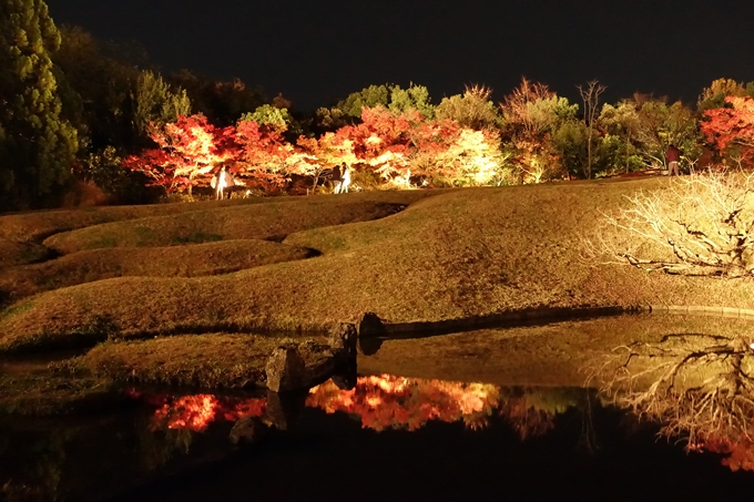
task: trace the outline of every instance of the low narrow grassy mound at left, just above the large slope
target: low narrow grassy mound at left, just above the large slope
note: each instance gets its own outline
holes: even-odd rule
[[[0,270],[0,296],[11,301],[50,289],[113,277],[196,277],[292,262],[310,249],[267,240],[223,240],[192,246],[88,249]]]

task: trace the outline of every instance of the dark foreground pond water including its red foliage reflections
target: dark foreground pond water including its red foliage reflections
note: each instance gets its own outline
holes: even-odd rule
[[[342,385],[342,387],[344,387]],[[397,376],[308,392],[126,390],[118,413],[0,420],[6,500],[750,500],[754,473],[686,453],[580,388]]]

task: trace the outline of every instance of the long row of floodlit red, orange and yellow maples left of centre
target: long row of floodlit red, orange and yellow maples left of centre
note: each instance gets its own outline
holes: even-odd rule
[[[203,115],[181,116],[154,127],[156,147],[124,161],[167,192],[208,184],[220,166],[245,185],[279,188],[292,175],[310,177],[316,188],[327,170],[343,164],[374,173],[383,182],[414,176],[446,185],[485,185],[496,177],[501,156],[497,131],[475,131],[420,112],[376,106],[363,110],[361,123],[320,137],[300,136],[295,144],[268,125],[244,120],[214,127]]]

